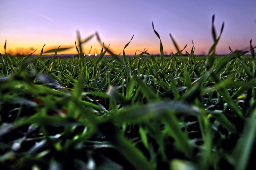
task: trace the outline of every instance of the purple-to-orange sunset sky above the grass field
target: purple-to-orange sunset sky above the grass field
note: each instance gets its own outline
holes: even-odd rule
[[[79,31],[84,39],[96,31],[105,45],[116,54],[148,50],[160,53],[159,33],[164,53],[177,52],[169,33],[180,46],[190,52],[192,40],[195,54],[207,54],[213,38],[211,19],[215,15],[217,35],[222,22],[224,31],[217,46],[218,54],[256,46],[256,0],[0,0],[0,53],[40,54],[44,51],[74,46]],[[94,37],[83,44],[87,55],[101,51]],[[77,54],[76,49],[62,53]],[[59,53],[61,54],[61,53]]]

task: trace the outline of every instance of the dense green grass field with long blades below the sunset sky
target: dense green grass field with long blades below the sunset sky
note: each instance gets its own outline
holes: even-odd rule
[[[1,54],[0,169],[255,170],[255,47],[212,35],[207,57]]]

